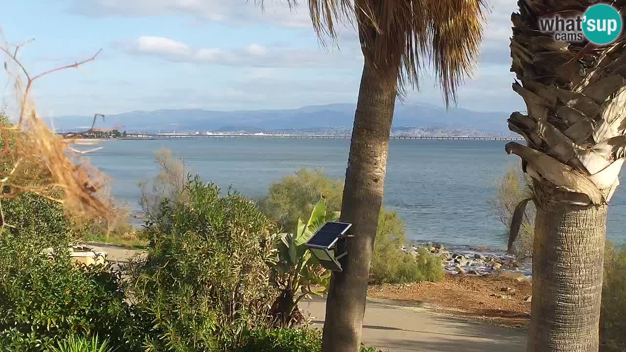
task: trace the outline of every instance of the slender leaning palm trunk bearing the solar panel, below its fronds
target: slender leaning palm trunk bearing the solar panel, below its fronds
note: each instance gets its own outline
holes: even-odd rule
[[[397,72],[392,75],[395,81]],[[341,221],[352,223],[353,237],[347,240],[348,254],[341,262],[343,271],[332,273],[326,303],[324,352],[359,351],[395,103],[395,84],[381,84],[366,60],[341,206]]]

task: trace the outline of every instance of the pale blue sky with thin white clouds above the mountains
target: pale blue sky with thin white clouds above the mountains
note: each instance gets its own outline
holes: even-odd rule
[[[354,29],[322,45],[305,1],[285,0],[0,0],[0,28],[31,76],[90,58],[78,69],[33,83],[42,116],[107,115],[135,110],[289,109],[354,103],[363,58]],[[304,5],[303,5],[304,4]],[[515,0],[491,0],[475,76],[458,106],[523,110],[511,90],[510,15]],[[6,74],[4,100],[11,99]],[[443,106],[429,68],[404,103]]]

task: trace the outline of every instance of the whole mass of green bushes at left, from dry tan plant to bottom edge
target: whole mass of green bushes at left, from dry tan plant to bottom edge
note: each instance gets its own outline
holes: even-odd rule
[[[81,230],[62,205],[28,192],[0,202],[6,220],[0,234],[0,351],[48,351],[53,341],[75,334],[131,346],[128,339],[140,333],[129,323],[133,313],[120,276],[108,266],[71,260],[68,246]],[[48,247],[54,256],[42,254]]]

